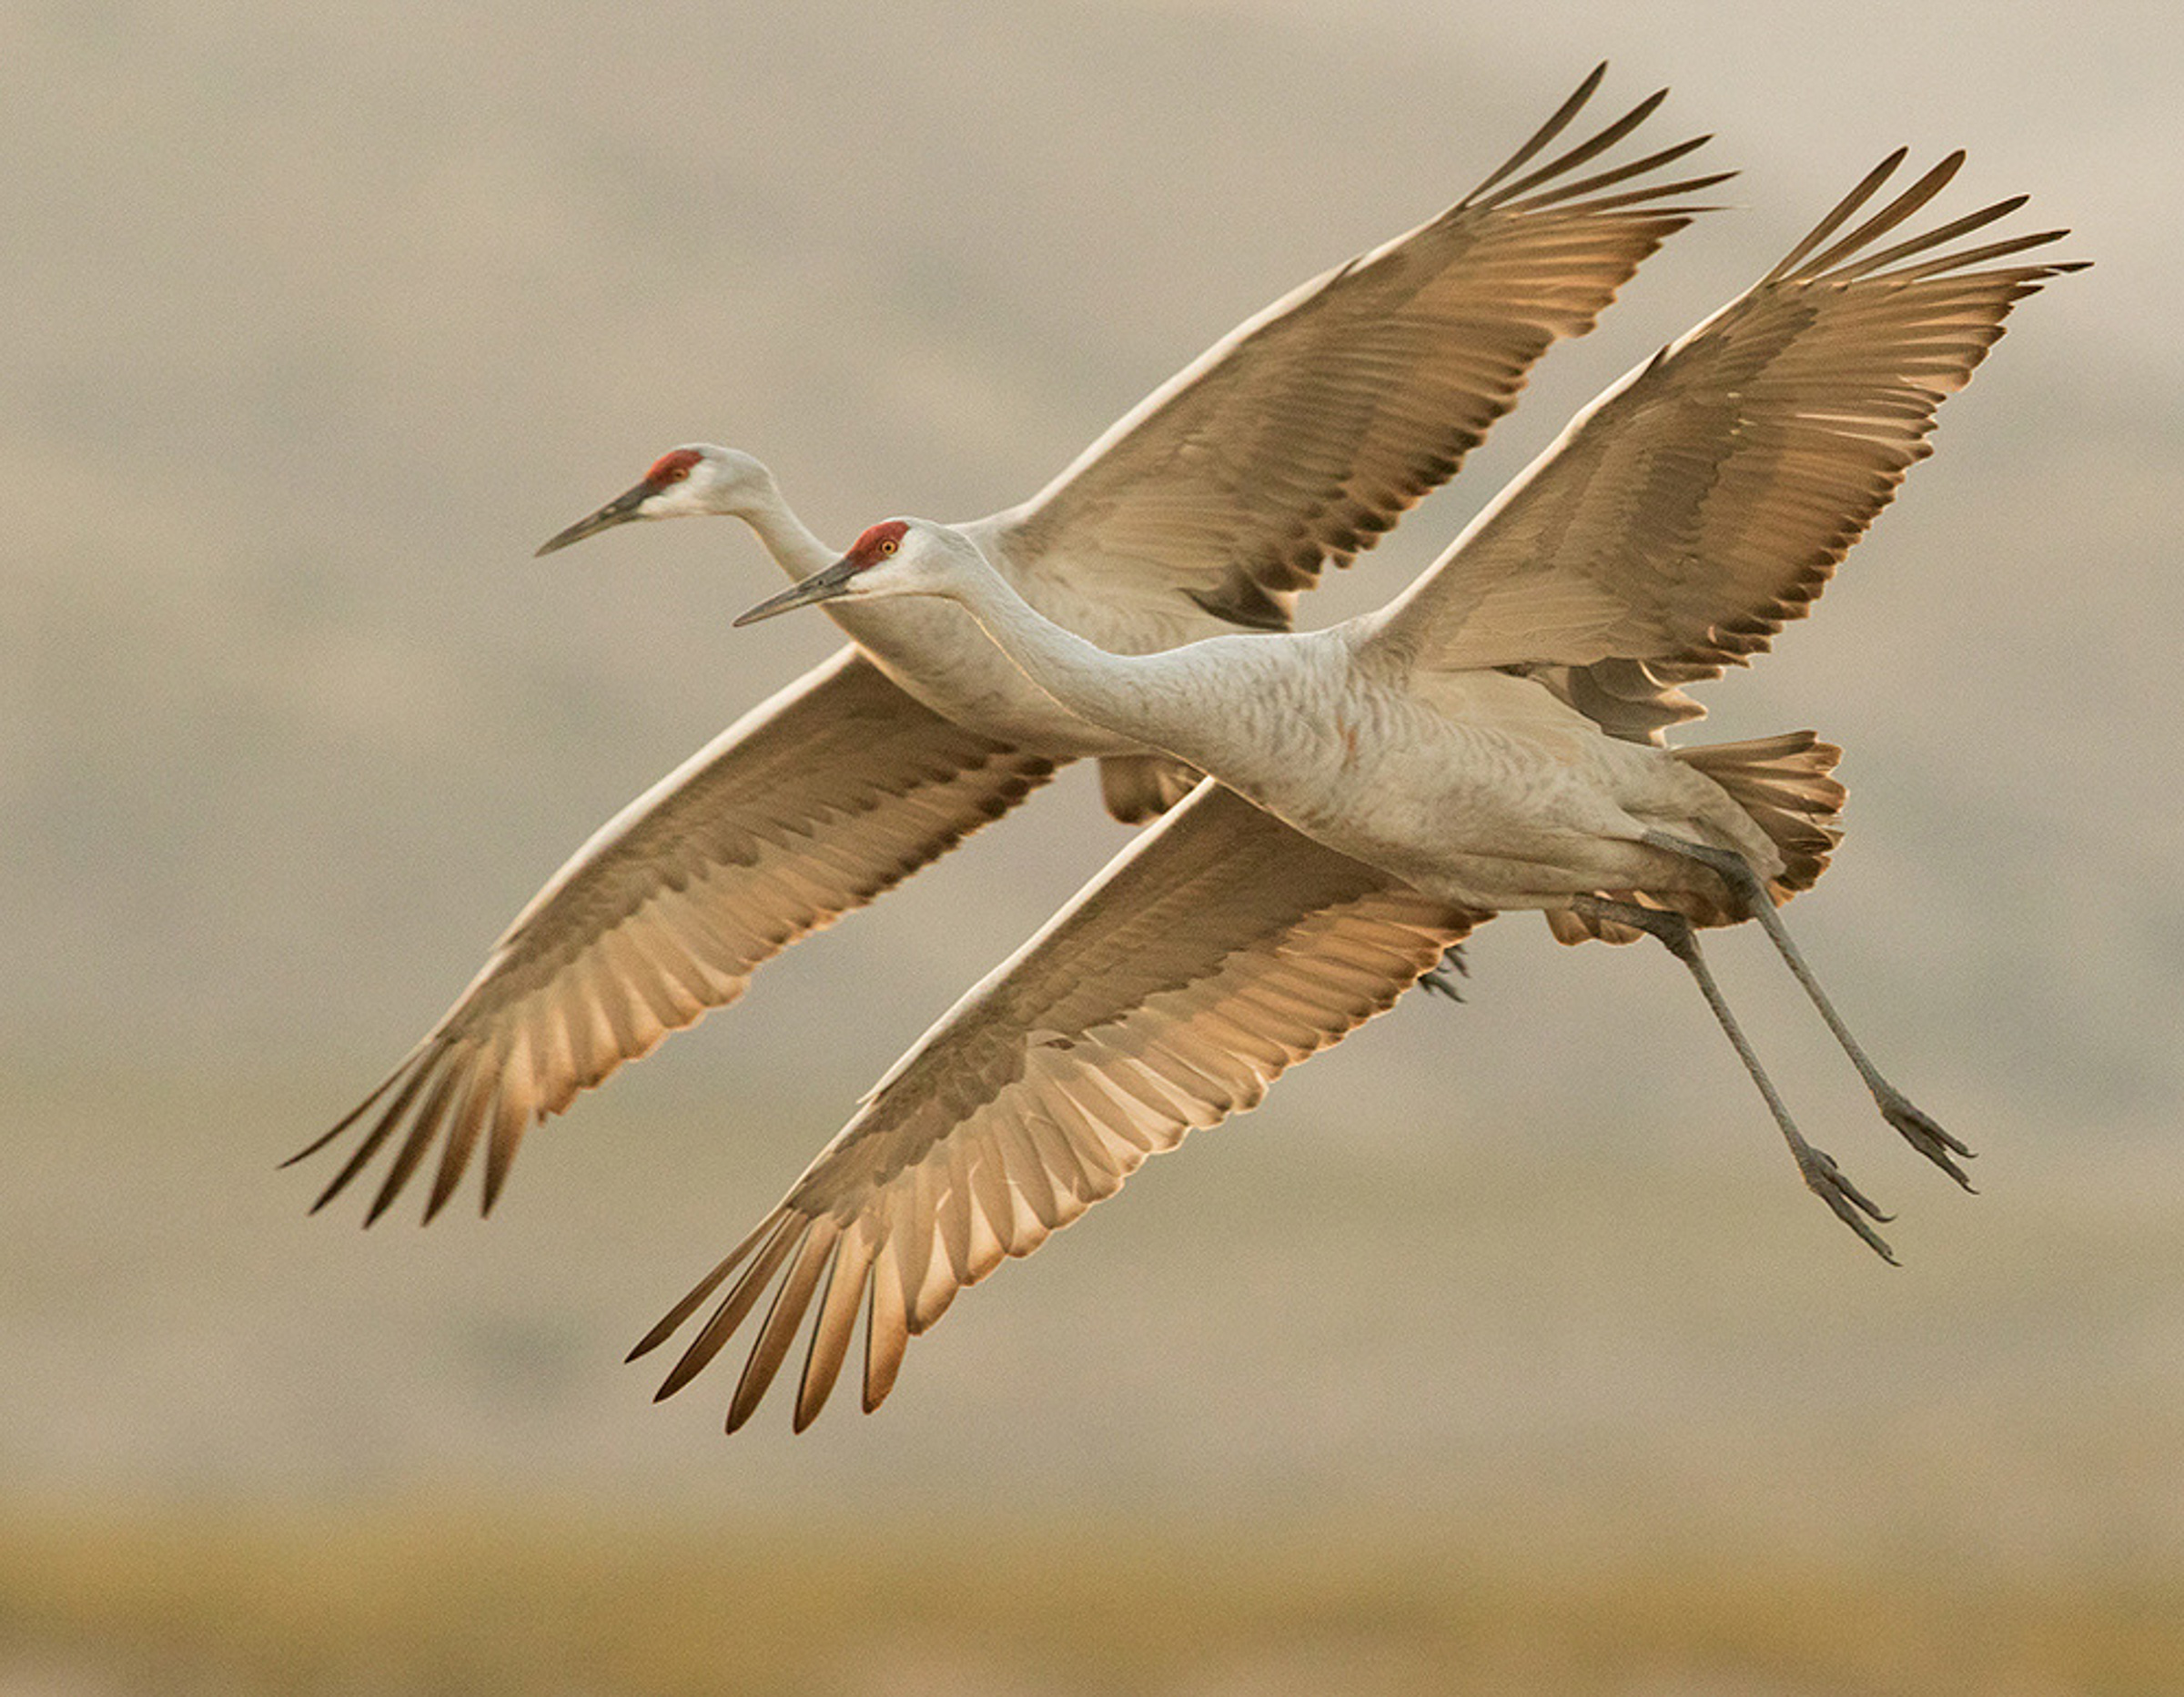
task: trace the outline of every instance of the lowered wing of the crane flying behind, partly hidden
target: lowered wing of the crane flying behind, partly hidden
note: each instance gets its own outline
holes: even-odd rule
[[[926,710],[856,649],[815,666],[609,819],[531,898],[461,1000],[310,1155],[360,1142],[317,1206],[393,1160],[367,1223],[435,1142],[426,1219],[489,1129],[485,1208],[522,1134],[758,965],[998,819],[1053,773]]]

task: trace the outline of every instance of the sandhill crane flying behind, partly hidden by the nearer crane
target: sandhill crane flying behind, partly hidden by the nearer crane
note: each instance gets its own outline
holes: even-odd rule
[[[1455,474],[1533,360],[1590,330],[1701,210],[1688,194],[1728,175],[1631,186],[1708,138],[1581,175],[1666,92],[1533,166],[1603,70],[1463,201],[1245,321],[1046,489],[965,535],[1042,612],[1109,649],[1286,627],[1319,568],[1348,563]],[[740,518],[791,579],[834,559],[764,465],[712,446],[662,454],[539,553],[695,513]],[[1195,778],[1061,710],[954,607],[843,609],[839,622],[850,649],[609,819],[439,1024],[295,1158],[360,1134],[317,1208],[391,1147],[367,1212],[378,1219],[441,1140],[432,1219],[483,1136],[491,1210],[529,1125],[736,1000],[769,957],[1000,817],[1057,764],[1096,756],[1125,821]]]

